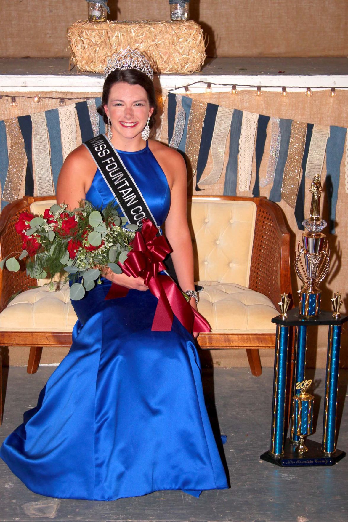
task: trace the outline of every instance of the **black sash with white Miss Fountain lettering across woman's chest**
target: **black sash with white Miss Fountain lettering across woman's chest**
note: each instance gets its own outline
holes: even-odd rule
[[[110,188],[119,208],[129,223],[142,227],[143,219],[150,219],[158,227],[151,210],[137,187],[130,172],[126,169],[118,152],[109,139],[100,134],[83,144],[89,150],[95,164]],[[177,278],[170,254],[164,259],[168,275],[177,283]]]

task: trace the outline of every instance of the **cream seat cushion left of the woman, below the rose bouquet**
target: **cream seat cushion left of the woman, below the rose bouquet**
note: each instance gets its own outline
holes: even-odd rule
[[[54,286],[55,291],[46,285],[16,295],[0,314],[0,331],[72,331],[77,317],[69,285]]]

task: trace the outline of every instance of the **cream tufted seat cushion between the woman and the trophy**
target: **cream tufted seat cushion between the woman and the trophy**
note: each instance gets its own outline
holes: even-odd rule
[[[272,317],[278,315],[273,303],[259,292],[234,283],[199,281],[198,311],[213,332],[274,333]]]

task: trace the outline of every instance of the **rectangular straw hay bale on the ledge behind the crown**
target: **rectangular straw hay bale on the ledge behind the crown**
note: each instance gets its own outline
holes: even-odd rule
[[[202,29],[192,20],[79,20],[68,28],[67,37],[70,64],[91,73],[103,73],[107,58],[127,45],[146,55],[157,74],[194,73],[206,58]]]

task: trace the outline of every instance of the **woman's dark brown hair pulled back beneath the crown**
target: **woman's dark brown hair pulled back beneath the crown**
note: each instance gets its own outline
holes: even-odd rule
[[[137,69],[115,69],[109,76],[106,77],[103,86],[102,104],[97,108],[97,111],[103,116],[104,123],[108,123],[105,113],[104,105],[109,101],[109,94],[111,87],[119,81],[124,81],[129,85],[140,85],[146,90],[150,107],[153,108],[153,113],[149,121],[149,127],[153,127],[155,123],[155,116],[157,114],[157,103],[154,93],[152,80],[140,70]]]

